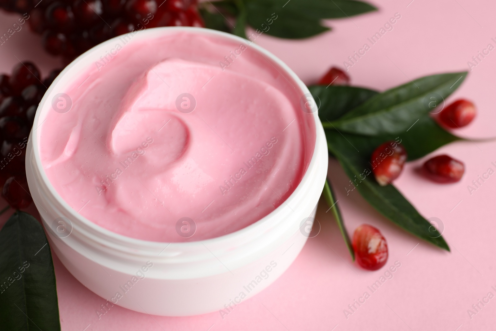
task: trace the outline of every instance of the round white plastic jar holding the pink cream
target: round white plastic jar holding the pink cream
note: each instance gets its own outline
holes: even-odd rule
[[[247,43],[230,34],[191,27],[146,29],[133,40],[178,30]],[[239,231],[203,241],[160,243],[125,237],[92,223],[62,199],[43,169],[36,131],[51,109],[57,86],[68,84],[115,40],[94,47],[67,66],[38,107],[27,146],[26,173],[50,245],[76,279],[109,301],[107,309],[117,304],[163,316],[217,310],[221,315],[229,314],[237,304],[276,280],[307,241],[307,221],[313,220],[307,218],[315,214],[327,173],[327,144],[316,106],[311,104],[311,96],[305,99],[312,107],[306,116],[314,121],[316,130],[311,138],[315,139],[315,147],[309,166],[291,196],[267,216]],[[249,47],[290,77],[300,95],[310,95],[305,84],[281,60],[255,44]]]

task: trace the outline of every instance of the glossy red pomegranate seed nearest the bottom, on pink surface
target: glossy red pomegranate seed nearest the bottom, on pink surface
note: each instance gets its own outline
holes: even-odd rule
[[[386,264],[386,239],[373,226],[362,224],[356,228],[352,245],[357,262],[364,269],[377,270]]]

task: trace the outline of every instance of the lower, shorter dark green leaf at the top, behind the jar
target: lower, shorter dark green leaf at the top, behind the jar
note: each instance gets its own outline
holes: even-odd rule
[[[321,26],[319,19],[305,16],[304,11],[293,12],[281,8],[282,5],[276,6],[273,1],[247,1],[248,24],[258,33],[289,39],[308,38],[330,30]],[[248,39],[254,41],[258,35],[254,32]]]

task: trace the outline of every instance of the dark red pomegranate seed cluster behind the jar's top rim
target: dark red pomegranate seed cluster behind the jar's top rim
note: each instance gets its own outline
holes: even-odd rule
[[[157,26],[204,23],[197,0],[0,0],[0,7],[28,13],[43,47],[66,62],[112,37]]]

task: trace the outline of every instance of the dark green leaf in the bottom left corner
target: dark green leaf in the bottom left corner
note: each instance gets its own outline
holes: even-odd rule
[[[16,211],[0,231],[2,330],[61,330],[50,246],[40,223]]]

